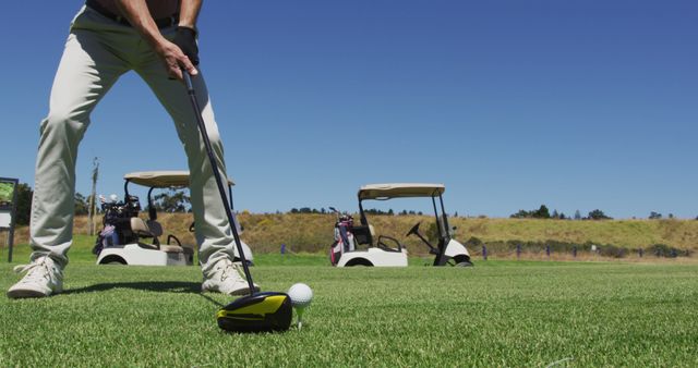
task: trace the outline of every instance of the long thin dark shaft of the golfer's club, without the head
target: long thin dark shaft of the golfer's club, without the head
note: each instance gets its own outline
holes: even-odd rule
[[[208,160],[210,161],[210,169],[214,172],[214,177],[216,179],[216,184],[218,185],[218,193],[220,194],[220,200],[222,200],[222,208],[226,210],[228,224],[230,225],[232,237],[236,241],[236,247],[238,248],[238,253],[240,254],[242,269],[244,270],[244,275],[248,279],[248,284],[250,286],[250,295],[252,295],[254,294],[254,283],[252,282],[252,274],[250,273],[248,260],[245,259],[244,253],[242,252],[242,243],[240,241],[240,234],[238,234],[238,229],[236,229],[236,223],[232,219],[232,212],[230,210],[230,207],[228,207],[228,201],[226,200],[226,188],[222,184],[222,179],[220,177],[220,171],[218,170],[216,158],[214,157],[214,151],[210,146],[210,139],[208,139],[208,132],[206,131],[206,124],[204,123],[204,118],[201,113],[201,107],[198,106],[198,101],[196,100],[196,93],[194,91],[192,77],[185,70],[182,70],[182,76],[184,77],[186,91],[189,93],[189,97],[192,101],[192,108],[194,109],[194,114],[196,115],[196,125],[198,126],[198,131],[201,132],[202,139],[204,140],[204,146],[206,147],[206,154],[208,155]]]

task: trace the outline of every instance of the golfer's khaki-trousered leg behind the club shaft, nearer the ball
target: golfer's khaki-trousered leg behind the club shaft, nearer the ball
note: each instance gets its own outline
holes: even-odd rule
[[[198,258],[204,268],[219,258],[234,256],[234,241],[228,225],[225,208],[204,142],[196,126],[196,116],[186,88],[179,81],[168,79],[159,62],[136,70],[148,83],[153,91],[169,112],[177,126],[177,133],[189,158],[190,191],[192,211],[196,222],[196,241],[200,244]],[[192,78],[206,131],[220,174],[226,175],[224,150],[214,119],[204,76],[200,73]],[[225,181],[225,179],[224,179]],[[204,271],[207,271],[204,269]]]

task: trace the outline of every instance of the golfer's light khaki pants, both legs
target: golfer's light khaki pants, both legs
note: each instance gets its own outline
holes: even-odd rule
[[[160,29],[168,38],[174,27]],[[109,88],[128,71],[135,71],[171,115],[189,158],[191,201],[204,272],[234,254],[225,208],[196,125],[186,88],[168,78],[164,64],[135,29],[83,7],[71,24],[50,95],[48,116],[41,121],[31,220],[32,259],[50,256],[68,263],[72,243],[77,146],[89,115]],[[221,175],[224,150],[203,75],[193,77],[198,105]],[[129,101],[124,108],[139,108]],[[112,128],[113,131],[113,128]],[[133,145],[123,139],[124,145]],[[226,177],[226,176],[224,176]]]

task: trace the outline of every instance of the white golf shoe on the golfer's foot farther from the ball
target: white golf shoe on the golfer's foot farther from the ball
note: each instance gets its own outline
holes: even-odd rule
[[[10,298],[45,297],[63,291],[63,271],[50,257],[16,266],[14,272],[26,274],[8,290]]]

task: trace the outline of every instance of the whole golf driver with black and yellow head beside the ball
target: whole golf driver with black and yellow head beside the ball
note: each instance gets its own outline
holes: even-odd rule
[[[226,210],[228,217],[228,224],[232,232],[232,237],[236,241],[238,254],[242,262],[242,269],[244,270],[244,277],[248,280],[250,286],[250,295],[242,296],[232,303],[224,306],[216,314],[218,320],[218,327],[226,331],[233,332],[270,332],[270,331],[285,331],[291,324],[291,318],[293,317],[293,309],[291,306],[291,298],[286,293],[266,292],[254,293],[254,283],[252,282],[252,274],[248,266],[242,246],[240,243],[240,234],[236,229],[236,223],[232,218],[232,212],[228,206],[226,197],[226,188],[224,186],[222,179],[220,177],[220,171],[216,164],[216,158],[214,157],[213,148],[210,147],[210,139],[208,139],[208,133],[206,132],[206,125],[204,124],[204,118],[201,113],[201,107],[196,100],[196,93],[192,84],[192,77],[185,70],[182,70],[184,83],[186,84],[186,91],[196,115],[196,124],[201,132],[208,160],[210,161],[210,169],[213,170],[216,184],[218,185],[218,192],[220,199],[222,200],[222,207]]]

